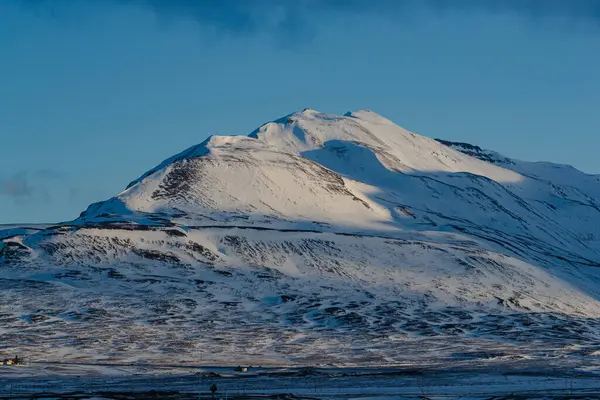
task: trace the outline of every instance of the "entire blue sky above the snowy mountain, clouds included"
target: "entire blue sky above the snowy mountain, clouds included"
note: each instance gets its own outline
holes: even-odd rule
[[[600,173],[600,2],[2,1],[0,223],[305,107]]]

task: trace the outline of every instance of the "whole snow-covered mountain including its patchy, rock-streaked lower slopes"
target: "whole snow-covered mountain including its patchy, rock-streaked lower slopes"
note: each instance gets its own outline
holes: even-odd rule
[[[210,137],[0,240],[0,343],[48,360],[581,358],[600,334],[599,176],[370,111]]]

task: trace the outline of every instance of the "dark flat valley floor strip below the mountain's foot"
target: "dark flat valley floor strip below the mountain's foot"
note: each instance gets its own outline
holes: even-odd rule
[[[251,368],[40,363],[2,369],[9,399],[594,399],[595,367]],[[39,373],[45,375],[40,377]],[[52,374],[55,374],[52,376]],[[217,386],[213,397],[209,388]]]

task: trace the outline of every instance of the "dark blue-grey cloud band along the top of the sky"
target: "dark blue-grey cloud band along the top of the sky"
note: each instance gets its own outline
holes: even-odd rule
[[[17,0],[45,7],[80,7],[86,0]],[[305,35],[320,16],[344,18],[349,14],[381,14],[407,18],[416,12],[435,14],[473,11],[515,14],[535,22],[546,18],[587,22],[600,27],[598,0],[87,0],[89,4],[140,6],[160,18],[186,18],[232,34],[271,31],[291,38]],[[93,9],[93,8],[90,8]]]

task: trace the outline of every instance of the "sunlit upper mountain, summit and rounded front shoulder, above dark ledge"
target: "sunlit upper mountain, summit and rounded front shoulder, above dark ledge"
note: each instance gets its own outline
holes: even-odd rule
[[[381,228],[389,223],[390,211],[368,191],[396,190],[405,176],[456,174],[498,183],[523,180],[517,172],[409,132],[370,110],[340,116],[304,109],[247,136],[210,136],[84,216],[183,212],[194,220],[250,213],[260,220],[276,215]]]

